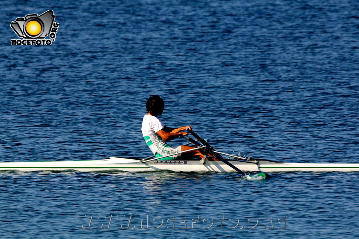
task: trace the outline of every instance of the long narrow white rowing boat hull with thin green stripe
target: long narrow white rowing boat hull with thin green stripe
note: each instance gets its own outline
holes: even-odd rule
[[[344,163],[280,163],[271,160],[232,161],[230,162],[244,172],[357,172],[359,164]],[[257,162],[257,163],[256,163]],[[149,161],[142,163],[137,159],[110,157],[103,160],[54,161],[54,162],[3,162],[0,170],[17,171],[62,171],[81,172],[119,170],[129,172],[146,172],[170,170],[175,172],[236,172],[222,161]]]

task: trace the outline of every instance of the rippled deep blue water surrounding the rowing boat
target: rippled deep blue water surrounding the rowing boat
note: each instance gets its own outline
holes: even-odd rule
[[[1,162],[150,156],[140,125],[153,94],[167,126],[191,125],[220,151],[358,162],[358,1],[0,6]],[[11,21],[49,9],[60,24],[52,45],[11,46]],[[359,173],[271,176],[3,171],[0,238],[359,237]]]

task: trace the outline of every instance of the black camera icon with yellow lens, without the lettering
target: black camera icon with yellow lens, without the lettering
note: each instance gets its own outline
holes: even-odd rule
[[[50,34],[55,15],[48,10],[41,15],[29,14],[11,22],[11,28],[24,39],[43,39]]]

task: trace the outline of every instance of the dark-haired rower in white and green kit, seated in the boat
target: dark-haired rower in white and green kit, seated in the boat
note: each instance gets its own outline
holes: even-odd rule
[[[166,143],[166,141],[171,141],[179,136],[186,136],[187,132],[185,131],[191,131],[192,128],[191,126],[180,128],[166,127],[157,117],[161,116],[162,112],[165,110],[165,103],[160,96],[150,96],[146,102],[146,110],[147,114],[143,118],[141,131],[147,146],[149,146],[157,158],[178,153],[177,155],[161,158],[159,160],[178,160],[182,155],[180,152],[193,149],[193,147],[183,145],[172,148]],[[185,154],[189,157],[204,157],[203,153],[198,150],[190,151]]]

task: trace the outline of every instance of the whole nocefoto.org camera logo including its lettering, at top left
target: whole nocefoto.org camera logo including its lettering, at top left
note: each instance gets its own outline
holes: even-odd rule
[[[29,14],[25,17],[18,17],[11,22],[11,28],[23,38],[11,39],[11,45],[51,45],[55,41],[59,23],[54,22],[55,15],[48,10],[41,15]],[[50,35],[50,39],[45,39]]]

